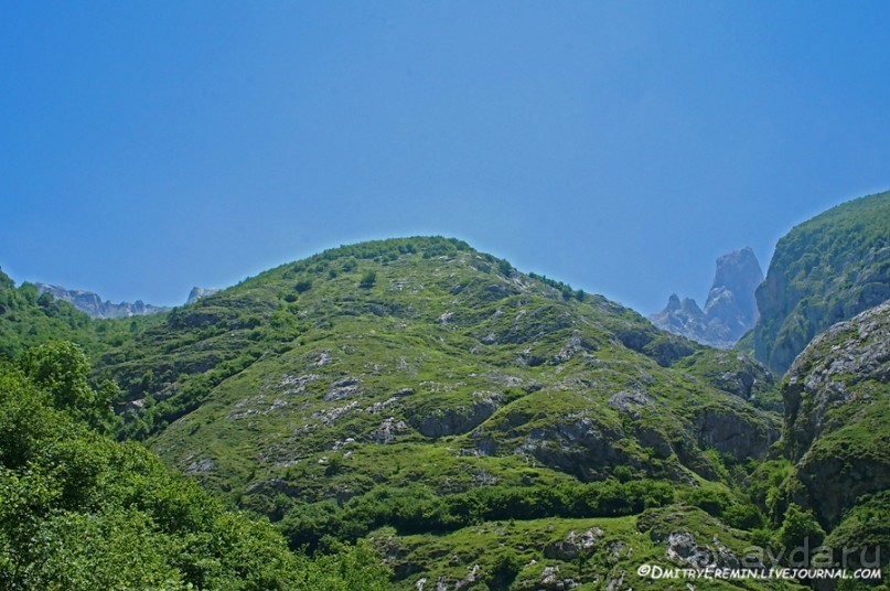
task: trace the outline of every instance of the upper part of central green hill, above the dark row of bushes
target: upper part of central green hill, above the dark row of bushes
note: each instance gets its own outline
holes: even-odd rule
[[[778,437],[750,393],[671,368],[694,355],[734,362],[601,297],[418,238],[265,272],[173,312],[98,369],[128,389],[133,425],[162,455],[186,470],[213,462],[203,479],[221,488],[256,486],[337,443],[388,454],[446,440],[481,459],[470,462],[684,481],[715,475],[707,449],[760,456]],[[249,454],[223,452],[245,443]]]

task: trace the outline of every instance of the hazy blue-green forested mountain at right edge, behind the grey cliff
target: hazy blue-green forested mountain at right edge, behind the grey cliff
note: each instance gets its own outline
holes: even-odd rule
[[[887,299],[890,192],[838,205],[779,240],[741,348],[782,374],[815,335]]]

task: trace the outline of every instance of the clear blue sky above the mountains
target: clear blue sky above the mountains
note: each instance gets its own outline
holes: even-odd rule
[[[442,234],[641,312],[890,189],[890,2],[0,2],[0,266],[184,301]]]

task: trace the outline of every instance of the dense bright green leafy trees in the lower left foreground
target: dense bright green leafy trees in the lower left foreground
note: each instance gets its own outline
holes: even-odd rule
[[[88,428],[96,400],[76,346],[43,345],[23,366],[0,367],[3,588],[386,589],[367,549],[293,555],[268,523]]]

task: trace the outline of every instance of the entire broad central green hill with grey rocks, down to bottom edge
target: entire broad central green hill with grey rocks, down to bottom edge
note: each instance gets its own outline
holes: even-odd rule
[[[294,548],[368,537],[406,589],[596,588],[635,568],[641,534],[652,557],[717,551],[726,526],[675,503],[760,525],[736,481],[781,427],[759,363],[443,238],[272,269],[163,316],[96,376],[127,393],[121,434]],[[502,520],[525,549],[492,551]],[[576,540],[589,529],[609,545]],[[727,531],[741,556],[751,534]]]

